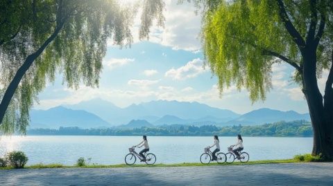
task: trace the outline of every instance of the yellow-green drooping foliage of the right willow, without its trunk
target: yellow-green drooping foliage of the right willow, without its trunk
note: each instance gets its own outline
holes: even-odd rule
[[[331,63],[327,57],[333,39],[333,9],[329,2],[318,2],[314,10],[327,22],[317,50],[318,77]],[[284,6],[296,30],[305,38],[312,19],[309,1],[284,0]],[[284,56],[289,64],[302,66],[300,48],[285,28],[277,1],[221,1],[217,8],[207,9],[204,14],[204,55],[212,73],[219,78],[221,93],[236,84],[237,89],[245,87],[249,91],[253,102],[264,100],[271,89],[272,64],[282,62]],[[300,82],[298,71],[293,80]]]

